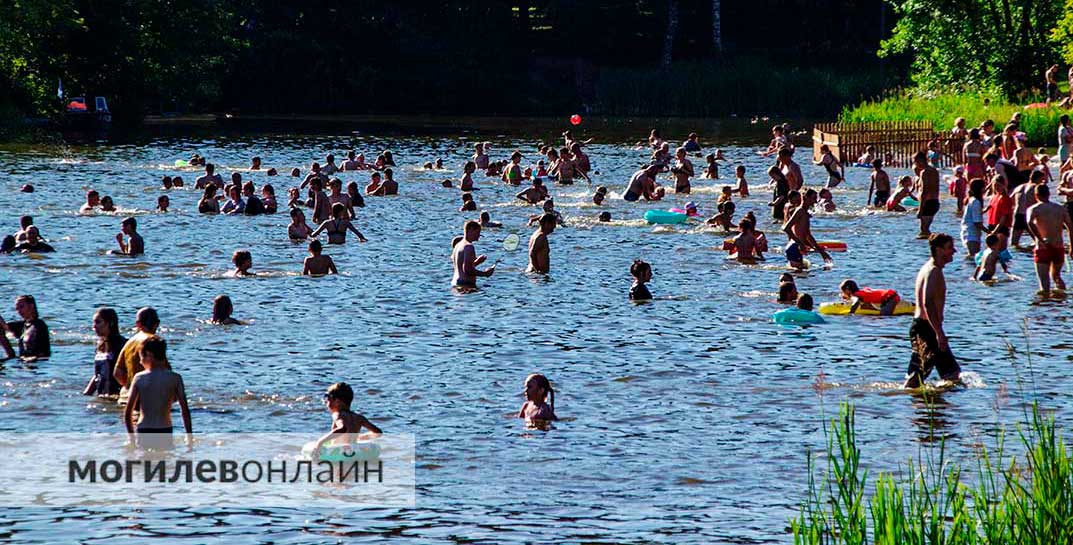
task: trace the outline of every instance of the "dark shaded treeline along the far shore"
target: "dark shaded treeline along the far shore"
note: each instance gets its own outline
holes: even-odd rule
[[[0,0],[0,100],[167,112],[837,112],[892,83],[881,0]],[[718,20],[714,16],[718,13]],[[886,60],[886,62],[899,62]],[[896,67],[898,68],[898,67]]]

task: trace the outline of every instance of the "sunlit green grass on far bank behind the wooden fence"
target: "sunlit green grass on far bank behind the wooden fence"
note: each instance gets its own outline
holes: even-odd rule
[[[1058,118],[1070,111],[1057,106],[1025,109],[979,93],[913,93],[902,92],[877,101],[865,101],[842,108],[839,120],[843,122],[871,121],[930,121],[937,132],[947,132],[958,117],[966,119],[966,127],[979,127],[987,119],[995,121],[996,131],[1010,120],[1015,112],[1021,113],[1020,130],[1030,146],[1057,144]]]

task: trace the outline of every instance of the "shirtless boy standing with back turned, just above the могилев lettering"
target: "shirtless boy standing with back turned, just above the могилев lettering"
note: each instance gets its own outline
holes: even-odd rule
[[[190,407],[182,377],[172,371],[167,364],[167,343],[151,336],[142,342],[139,360],[145,370],[134,375],[130,385],[130,399],[123,410],[123,424],[128,433],[134,433],[134,410],[138,409],[137,443],[143,447],[167,447],[172,443],[172,404],[179,402],[182,426],[187,434],[193,433]],[[149,433],[160,433],[156,440]],[[143,437],[147,436],[147,437]]]

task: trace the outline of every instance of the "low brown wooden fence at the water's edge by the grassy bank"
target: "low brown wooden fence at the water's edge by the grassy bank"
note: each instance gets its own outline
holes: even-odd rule
[[[820,146],[826,144],[843,165],[857,162],[868,146],[876,146],[876,157],[891,153],[888,166],[908,167],[913,154],[927,151],[928,143],[939,137],[939,166],[964,164],[961,146],[935,132],[927,121],[877,121],[869,123],[817,123],[812,129],[812,158],[820,160]]]

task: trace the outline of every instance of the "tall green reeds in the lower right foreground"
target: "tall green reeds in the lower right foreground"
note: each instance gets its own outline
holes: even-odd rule
[[[910,461],[905,480],[880,473],[867,495],[854,428],[853,406],[842,403],[825,427],[820,481],[809,453],[808,495],[791,520],[795,544],[1073,543],[1073,457],[1039,406],[1018,431],[1024,460],[1006,460],[1000,436],[994,457],[982,451],[975,485],[962,482],[940,442],[938,453]]]

